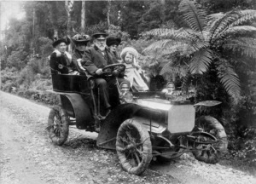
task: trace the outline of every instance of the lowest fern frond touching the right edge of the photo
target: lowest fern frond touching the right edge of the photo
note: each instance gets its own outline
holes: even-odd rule
[[[231,49],[233,52],[240,52],[241,55],[256,58],[256,39],[251,37],[230,39],[222,47],[224,49]]]

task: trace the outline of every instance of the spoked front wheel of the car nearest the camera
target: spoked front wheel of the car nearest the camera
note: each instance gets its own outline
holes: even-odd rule
[[[116,151],[125,171],[133,175],[142,174],[152,158],[148,131],[132,119],[125,120],[118,130]]]

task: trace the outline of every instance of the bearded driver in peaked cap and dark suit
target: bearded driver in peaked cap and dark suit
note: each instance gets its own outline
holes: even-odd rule
[[[108,37],[108,34],[99,32],[93,34],[92,37],[94,46],[90,49],[86,49],[83,58],[79,61],[81,61],[82,66],[87,72],[94,76],[96,87],[100,89],[100,98],[104,101],[104,106],[108,109],[108,114],[111,110],[108,89],[116,94],[119,92],[116,87],[116,78],[103,77],[102,68],[117,62],[113,60],[113,56],[107,48],[106,37]],[[117,78],[117,80],[119,83],[129,83],[124,78]]]

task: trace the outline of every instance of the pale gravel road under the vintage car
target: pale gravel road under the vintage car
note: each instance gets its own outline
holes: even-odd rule
[[[151,164],[141,176],[123,171],[115,152],[96,147],[96,134],[71,127],[62,147],[45,130],[49,107],[0,91],[0,183],[256,183],[241,171],[204,164],[189,154]]]

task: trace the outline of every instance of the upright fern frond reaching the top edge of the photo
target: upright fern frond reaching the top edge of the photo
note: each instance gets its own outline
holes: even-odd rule
[[[179,4],[179,10],[183,13],[183,19],[188,25],[198,32],[202,32],[206,26],[207,13],[204,9],[199,9],[195,1],[183,0]]]

